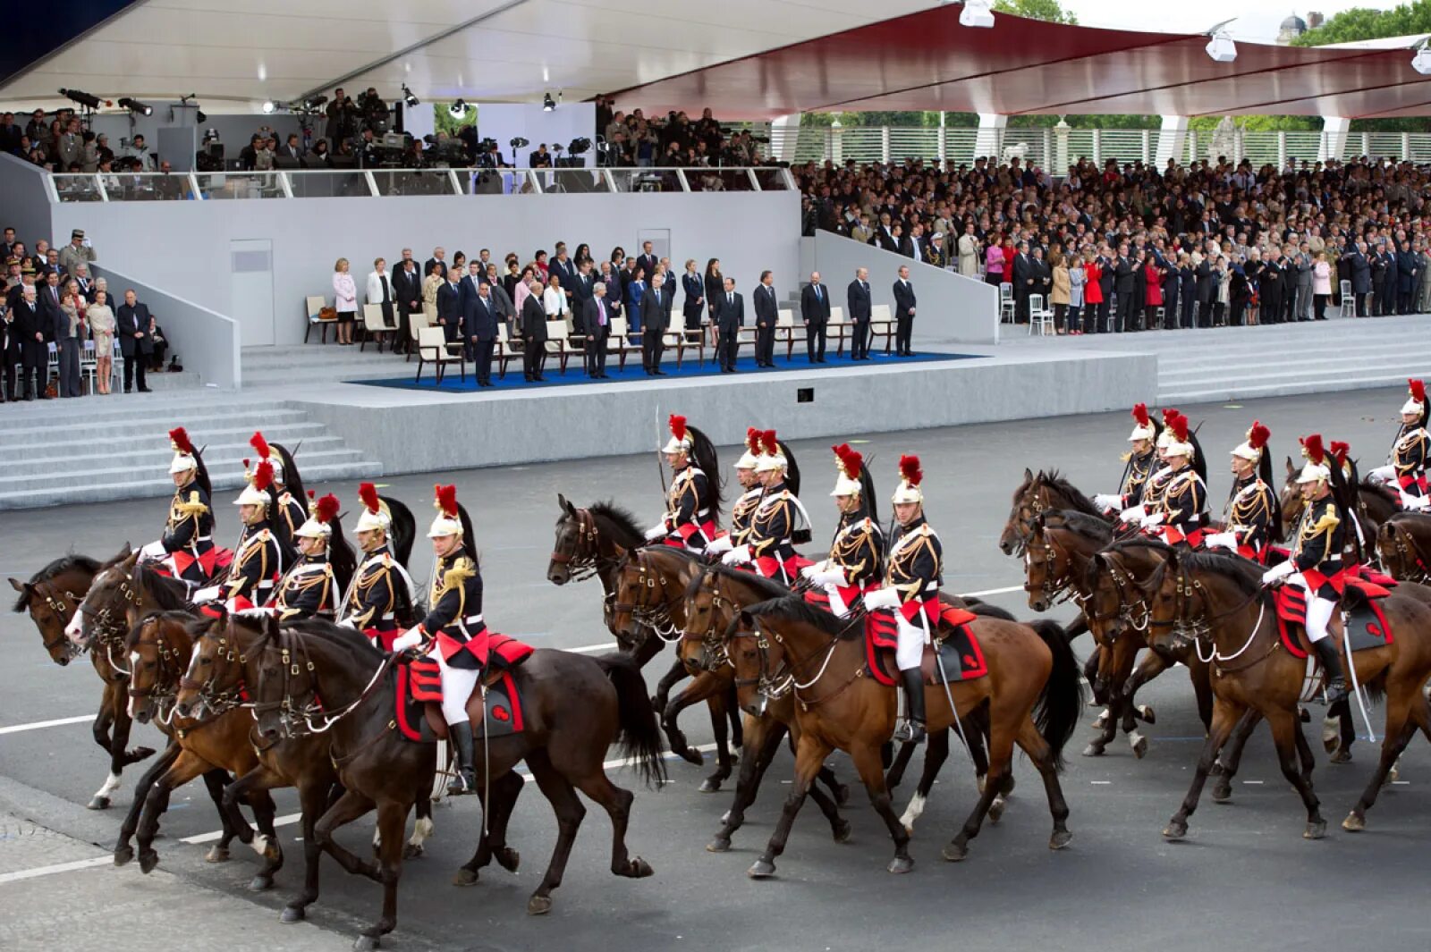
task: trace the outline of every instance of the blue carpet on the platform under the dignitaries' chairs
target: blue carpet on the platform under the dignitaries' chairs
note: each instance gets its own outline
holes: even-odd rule
[[[670,353],[670,352],[667,352]],[[894,357],[886,356],[884,353],[871,353],[869,360],[853,362],[850,360],[849,352],[843,356],[836,356],[833,352],[827,352],[824,359],[826,363],[811,365],[806,357],[804,350],[800,349],[787,362],[784,353],[776,350],[776,366],[773,369],[756,367],[754,357],[738,357],[736,360],[736,375],[726,375],[727,377],[754,376],[754,375],[773,375],[781,373],[784,370],[834,370],[840,367],[903,367],[914,363],[947,363],[950,360],[970,360],[979,354],[973,353],[917,353],[913,357]],[[694,353],[688,353],[681,369],[677,370],[674,360],[667,360],[661,365],[665,370],[667,380],[677,380],[685,377],[720,377],[720,365],[717,365],[710,357],[710,350],[705,352],[705,365],[700,366]],[[422,382],[414,383],[412,377],[416,375],[416,365],[412,365],[412,370],[404,377],[389,377],[381,380],[349,380],[349,383],[362,383],[372,387],[396,387],[399,390],[436,390],[442,393],[468,393],[478,390],[477,377],[472,376],[471,365],[467,369],[467,382],[462,380],[456,367],[448,367],[446,376],[439,387],[435,383],[434,367],[424,367]],[[600,380],[591,380],[582,370],[581,357],[574,356],[567,363],[567,373],[561,373],[557,360],[547,359],[547,382],[545,383],[527,383],[522,380],[522,363],[521,360],[512,360],[507,366],[507,377],[497,376],[497,362],[492,362],[492,387],[491,390],[529,390],[541,387],[562,387],[575,386],[584,383],[601,383]],[[654,380],[660,377],[648,377],[645,370],[641,369],[641,354],[634,353],[627,357],[625,370],[618,367],[615,356],[608,356],[607,359],[607,382],[635,382],[635,380]]]

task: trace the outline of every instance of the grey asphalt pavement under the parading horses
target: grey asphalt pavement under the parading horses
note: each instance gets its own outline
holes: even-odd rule
[[[1401,390],[1369,390],[1182,409],[1203,423],[1199,436],[1211,457],[1211,495],[1219,500],[1213,509],[1219,509],[1229,487],[1226,452],[1254,419],[1272,429],[1281,480],[1282,457],[1295,455],[1296,436],[1308,432],[1349,440],[1364,467],[1381,463],[1402,399]],[[685,412],[700,426],[698,407]],[[926,510],[944,543],[946,589],[993,590],[989,600],[1029,616],[1022,592],[1000,592],[1022,583],[1020,563],[996,546],[1013,487],[1025,466],[1056,466],[1089,493],[1112,492],[1129,427],[1126,413],[1109,413],[849,436],[864,440],[856,446],[873,457],[884,519],[899,456],[922,457]],[[827,496],[834,477],[829,443],[794,443],[817,543],[829,539],[836,520]],[[723,447],[727,475],[736,456],[736,447]],[[650,525],[660,513],[663,492],[654,459],[653,453],[405,476],[386,480],[384,492],[406,500],[425,525],[432,483],[456,483],[477,526],[489,625],[538,646],[591,648],[610,640],[601,625],[598,583],[557,587],[545,579],[557,493],[577,505],[614,499]],[[345,500],[351,522],[356,486],[322,489]],[[727,487],[727,503],[733,495],[733,486]],[[238,535],[232,499],[233,493],[223,493],[216,500],[216,535],[229,543]],[[66,550],[103,557],[126,540],[143,545],[157,537],[163,519],[160,500],[6,513],[0,522],[0,576],[29,577]],[[431,555],[421,542],[412,569],[414,577],[424,580]],[[817,550],[820,545],[810,547],[810,553]],[[1066,608],[1053,616],[1069,618]],[[376,918],[379,888],[325,859],[323,892],[309,909],[309,923],[279,926],[278,911],[301,881],[296,826],[282,829],[288,865],[275,889],[248,893],[245,886],[256,869],[252,853],[235,849],[233,859],[222,865],[203,861],[205,835],[218,829],[218,820],[202,786],[175,792],[163,820],[165,838],[157,841],[159,872],[145,878],[135,865],[114,869],[104,863],[103,851],[113,845],[119,810],[129,806],[139,772],[126,770],[114,808],[84,809],[107,765],[87,723],[99,682],[86,663],[54,666],[27,618],[0,616],[0,948],[123,952],[166,948],[160,939],[169,935],[176,943],[187,939],[197,948],[342,948],[362,923]],[[1075,649],[1086,655],[1089,640],[1080,639]],[[647,668],[653,685],[667,665],[663,655]],[[1425,868],[1431,746],[1424,739],[1412,742],[1400,782],[1368,815],[1367,832],[1351,835],[1338,823],[1364,788],[1377,748],[1362,736],[1351,765],[1328,765],[1317,745],[1317,725],[1311,725],[1318,750],[1314,783],[1329,833],[1309,842],[1301,836],[1299,800],[1281,778],[1266,733],[1259,732],[1238,775],[1234,803],[1222,806],[1203,798],[1191,820],[1189,841],[1169,843],[1159,830],[1191,780],[1202,726],[1183,669],[1149,685],[1139,699],[1158,716],[1156,725],[1143,728],[1151,739],[1145,759],[1135,759],[1122,739],[1102,758],[1079,756],[1092,709],[1070,742],[1062,782],[1073,842],[1059,853],[1047,849],[1050,820],[1042,786],[1020,758],[1015,763],[1019,788],[1003,820],[985,828],[963,863],[940,861],[939,848],[975,802],[969,759],[956,750],[919,820],[913,873],[884,872],[890,841],[863,792],[856,790],[847,809],[854,826],[850,842],[833,843],[827,823],[807,806],[778,861],[778,876],[754,882],[746,869],[763,849],[788,790],[788,755],[781,753],[771,768],[746,828],[726,855],[707,853],[704,845],[718,828],[733,785],[721,793],[700,793],[697,786],[708,768],[673,762],[671,780],[660,790],[640,788],[630,772],[614,772],[617,783],[637,792],[628,845],[655,875],[641,881],[611,876],[610,825],[604,812],[588,803],[555,908],[539,919],[525,915],[527,896],[545,868],[555,822],[535,785],[522,795],[511,823],[509,842],[522,855],[519,872],[494,866],[468,889],[451,885],[451,878],[471,856],[479,810],[472,798],[441,805],[426,856],[404,865],[398,929],[384,945],[819,952],[939,942],[1129,952],[1156,945],[1161,952],[1202,952],[1209,946],[1332,949],[1374,939],[1378,951],[1431,949],[1431,876]],[[1372,719],[1379,738],[1379,709]],[[693,743],[711,740],[704,710],[688,710],[683,726]],[[1364,725],[1358,729],[1365,735]],[[132,742],[162,746],[152,728],[136,726]],[[830,763],[843,780],[853,782],[843,755],[831,756]],[[912,785],[913,772],[897,792],[900,810]],[[290,792],[279,792],[278,802],[280,815],[296,812]],[[29,852],[21,855],[16,843],[23,836],[30,839],[24,842]],[[366,820],[339,833],[353,846],[369,836]],[[36,846],[34,838],[53,846]],[[106,913],[104,928],[96,928],[96,911]],[[303,938],[283,938],[289,935]]]

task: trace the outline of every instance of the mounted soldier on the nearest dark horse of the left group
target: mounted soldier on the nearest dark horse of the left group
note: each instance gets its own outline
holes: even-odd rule
[[[456,502],[456,486],[434,486],[438,510],[428,529],[432,587],[428,616],[392,643],[394,650],[416,648],[431,655],[442,672],[442,718],[448,723],[458,773],[448,793],[477,792],[472,725],[467,702],[487,665],[487,625],[482,622],[482,572],[468,546],[472,520]]]

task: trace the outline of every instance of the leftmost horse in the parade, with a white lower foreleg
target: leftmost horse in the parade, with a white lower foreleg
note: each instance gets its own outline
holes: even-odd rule
[[[80,602],[89,592],[90,582],[104,567],[114,565],[129,556],[129,546],[107,563],[96,562],[89,556],[67,555],[50,562],[47,566],[30,576],[29,582],[10,579],[10,585],[20,598],[16,599],[13,610],[29,612],[30,620],[40,630],[40,639],[50,660],[64,668],[83,649],[64,635],[64,626],[79,610]],[[109,775],[104,783],[90,798],[87,808],[92,810],[109,809],[114,790],[119,789],[120,773],[132,763],[139,763],[155,755],[153,748],[129,748],[129,732],[133,720],[129,716],[126,690],[129,676],[114,663],[113,639],[100,639],[90,645],[90,663],[99,675],[104,690],[99,699],[99,713],[94,715],[92,733],[94,743],[109,755]],[[120,652],[123,655],[123,652]]]

